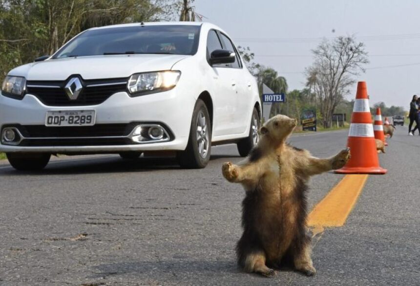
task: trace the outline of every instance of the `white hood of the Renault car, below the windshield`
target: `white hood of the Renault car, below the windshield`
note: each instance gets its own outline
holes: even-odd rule
[[[186,55],[109,55],[46,60],[18,66],[9,75],[27,80],[65,80],[78,74],[83,79],[129,77],[133,73],[169,70]]]

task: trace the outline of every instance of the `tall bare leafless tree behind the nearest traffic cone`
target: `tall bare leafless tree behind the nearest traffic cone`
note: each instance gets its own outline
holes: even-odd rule
[[[331,127],[332,115],[355,83],[352,76],[364,72],[369,63],[364,44],[354,36],[324,40],[314,50],[314,63],[306,70],[307,86],[313,89],[325,128]]]

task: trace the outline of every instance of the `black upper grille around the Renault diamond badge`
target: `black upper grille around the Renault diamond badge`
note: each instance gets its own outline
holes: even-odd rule
[[[112,94],[126,91],[126,78],[81,80],[83,89],[76,100],[64,91],[66,81],[28,81],[26,93],[36,96],[47,106],[87,106],[103,103]]]

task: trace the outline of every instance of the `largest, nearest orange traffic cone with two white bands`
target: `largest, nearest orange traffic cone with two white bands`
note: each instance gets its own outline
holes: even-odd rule
[[[352,157],[343,168],[336,170],[336,173],[385,174],[387,172],[379,166],[366,82],[357,83],[347,147],[350,148]]]

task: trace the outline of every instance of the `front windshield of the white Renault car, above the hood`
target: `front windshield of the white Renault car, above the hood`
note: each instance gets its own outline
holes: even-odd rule
[[[57,58],[119,54],[193,55],[200,26],[138,25],[88,30],[65,44]]]

